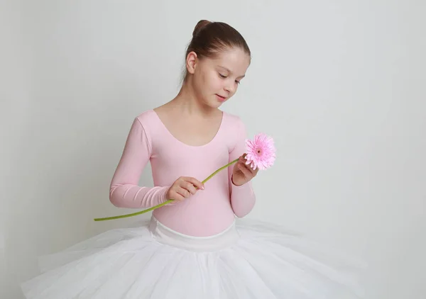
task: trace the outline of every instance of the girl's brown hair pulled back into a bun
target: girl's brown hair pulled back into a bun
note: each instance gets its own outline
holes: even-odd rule
[[[251,56],[246,40],[236,29],[226,23],[201,20],[192,32],[192,40],[187,46],[185,60],[190,52],[195,52],[199,59],[214,58],[219,52],[231,47],[239,47],[249,57]],[[184,79],[186,75],[185,67]]]

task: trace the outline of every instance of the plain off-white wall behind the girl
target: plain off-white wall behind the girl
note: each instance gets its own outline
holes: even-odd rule
[[[22,298],[37,256],[144,219],[93,221],[129,212],[108,193],[131,122],[178,92],[207,18],[253,52],[223,109],[278,147],[249,217],[361,256],[368,299],[425,298],[425,14],[421,0],[1,1],[0,297]]]

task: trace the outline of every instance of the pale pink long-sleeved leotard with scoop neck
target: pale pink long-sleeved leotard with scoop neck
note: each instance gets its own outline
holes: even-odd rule
[[[235,115],[223,112],[217,135],[206,145],[186,145],[176,139],[153,110],[133,121],[124,152],[111,181],[110,201],[120,208],[151,208],[167,201],[165,193],[180,176],[199,181],[244,154],[246,130]],[[141,172],[151,163],[153,187],[139,186]],[[209,236],[222,232],[236,217],[247,215],[256,201],[251,181],[231,182],[234,165],[220,171],[204,190],[185,201],[153,211],[155,218],[185,235]]]

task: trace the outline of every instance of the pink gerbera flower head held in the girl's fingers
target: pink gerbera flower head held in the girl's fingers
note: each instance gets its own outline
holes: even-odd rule
[[[251,164],[252,169],[267,169],[275,162],[273,139],[263,133],[256,135],[253,140],[246,140],[246,151],[246,164]]]

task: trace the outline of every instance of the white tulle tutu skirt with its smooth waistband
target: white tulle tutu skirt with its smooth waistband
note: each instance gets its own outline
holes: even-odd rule
[[[264,222],[190,237],[152,218],[44,256],[21,287],[28,299],[354,299],[359,266]]]

